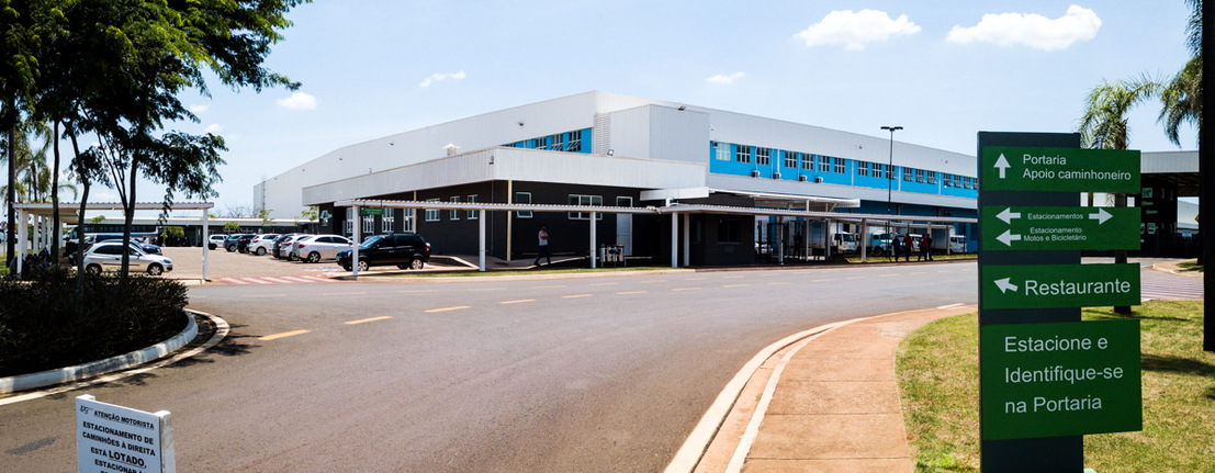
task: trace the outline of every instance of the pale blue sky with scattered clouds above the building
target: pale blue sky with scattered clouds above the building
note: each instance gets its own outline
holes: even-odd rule
[[[318,1],[267,63],[300,94],[213,81],[183,97],[200,123],[177,128],[227,140],[221,212],[345,145],[589,90],[881,137],[902,125],[898,141],[974,153],[979,130],[1074,130],[1102,80],[1176,73],[1187,15],[1183,0]],[[1176,150],[1158,112],[1132,114],[1132,147]]]

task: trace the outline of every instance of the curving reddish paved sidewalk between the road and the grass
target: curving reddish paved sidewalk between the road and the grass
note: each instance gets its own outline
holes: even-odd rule
[[[752,376],[696,471],[912,471],[894,373],[899,342],[933,320],[976,310],[864,319],[776,353]]]

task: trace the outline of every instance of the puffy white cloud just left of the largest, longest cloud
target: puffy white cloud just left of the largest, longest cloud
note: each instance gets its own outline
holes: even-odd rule
[[[906,15],[897,19],[885,11],[852,10],[832,11],[823,21],[797,34],[806,46],[841,44],[847,50],[860,51],[866,44],[889,40],[894,36],[920,33],[920,27],[908,21]]]

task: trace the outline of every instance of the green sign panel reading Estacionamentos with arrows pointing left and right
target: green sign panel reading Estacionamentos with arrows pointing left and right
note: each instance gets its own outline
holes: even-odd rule
[[[983,207],[983,249],[1138,249],[1140,209]]]

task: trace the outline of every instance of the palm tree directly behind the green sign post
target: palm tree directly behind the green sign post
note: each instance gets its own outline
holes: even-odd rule
[[[1126,150],[1130,142],[1130,124],[1126,114],[1140,102],[1160,92],[1160,84],[1142,77],[1138,80],[1113,84],[1102,81],[1089,92],[1084,116],[1080,117],[1080,141],[1083,146],[1101,150]],[[1092,205],[1092,193],[1089,193]],[[1114,207],[1126,207],[1126,195],[1114,195]],[[1114,252],[1114,263],[1125,264],[1126,252]],[[1115,306],[1118,314],[1130,314],[1130,306]]]

